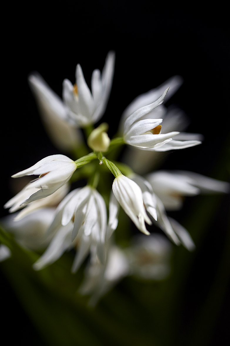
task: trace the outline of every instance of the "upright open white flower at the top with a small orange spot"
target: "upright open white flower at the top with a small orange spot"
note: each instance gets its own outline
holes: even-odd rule
[[[82,68],[77,65],[76,84],[68,79],[63,82],[63,99],[69,109],[69,116],[77,126],[95,124],[103,115],[112,87],[115,54],[109,52],[102,75],[94,70],[91,80],[92,93],[84,79]]]

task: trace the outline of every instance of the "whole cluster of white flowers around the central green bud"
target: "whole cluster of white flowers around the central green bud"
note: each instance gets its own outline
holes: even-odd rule
[[[125,109],[118,130],[120,137],[111,140],[106,123],[94,128],[106,110],[114,64],[115,54],[109,52],[102,73],[94,70],[92,74],[91,91],[78,64],[76,83],[72,85],[68,79],[63,82],[63,100],[40,75],[29,76],[54,144],[76,157],[72,160],[65,155],[51,155],[12,175],[38,178],[4,206],[10,212],[24,207],[13,218],[3,220],[18,243],[35,251],[45,250],[33,264],[35,270],[74,249],[72,271],[76,272],[89,255],[80,292],[92,295],[92,303],[126,275],[164,278],[170,271],[171,244],[166,237],[162,240],[162,236],[151,234],[150,226],[155,224],[174,244],[192,251],[195,244],[189,232],[168,217],[166,210],[182,208],[183,196],[229,191],[228,183],[197,173],[150,173],[148,163],[154,163],[154,155],[201,144],[202,135],[179,132],[187,125],[183,112],[163,105],[182,84],[179,76],[140,95]],[[123,163],[114,161],[116,149],[126,144],[131,150],[124,155]],[[83,147],[86,155],[80,157]],[[111,173],[115,177],[113,183]],[[69,192],[71,183],[80,178],[86,178],[87,185]],[[120,206],[144,234],[126,249],[118,247],[112,236],[119,225]]]

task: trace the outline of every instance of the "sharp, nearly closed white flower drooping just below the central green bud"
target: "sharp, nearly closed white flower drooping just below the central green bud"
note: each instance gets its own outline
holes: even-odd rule
[[[121,174],[114,179],[113,193],[136,227],[143,233],[150,234],[145,227],[145,221],[149,225],[152,222],[145,211],[141,188],[134,181]]]

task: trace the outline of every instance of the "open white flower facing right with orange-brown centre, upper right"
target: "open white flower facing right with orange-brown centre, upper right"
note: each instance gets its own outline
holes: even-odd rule
[[[123,139],[125,143],[147,151],[182,149],[201,143],[198,140],[172,140],[171,137],[178,135],[178,131],[162,134],[162,126],[160,124],[163,119],[147,118],[147,114],[164,101],[168,90],[169,88],[155,102],[137,109],[127,117],[123,126]]]

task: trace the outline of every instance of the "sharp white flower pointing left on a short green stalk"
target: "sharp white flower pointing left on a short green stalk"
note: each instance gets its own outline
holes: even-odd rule
[[[43,158],[30,168],[12,175],[18,178],[24,175],[39,175],[39,178],[31,181],[27,189],[31,189],[31,195],[20,206],[45,198],[69,181],[76,170],[76,163],[65,155],[51,155]],[[33,193],[33,188],[39,189]]]

